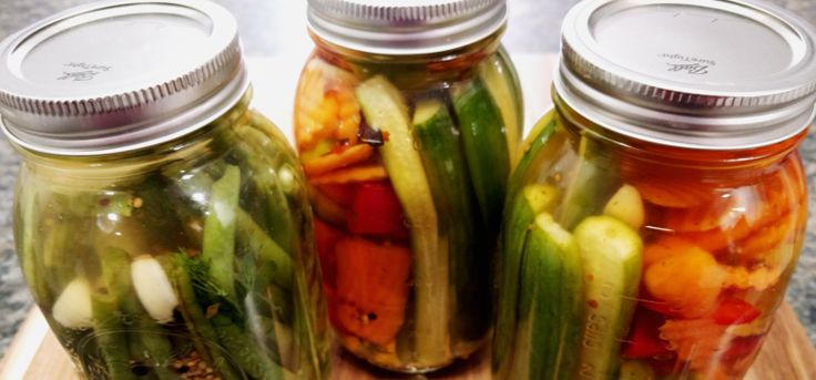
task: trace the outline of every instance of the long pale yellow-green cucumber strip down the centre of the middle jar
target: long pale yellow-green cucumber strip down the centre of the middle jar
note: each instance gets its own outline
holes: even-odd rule
[[[439,220],[422,160],[414,145],[408,106],[399,90],[381,75],[363,82],[356,94],[368,124],[389,135],[379,152],[410,223],[417,362],[438,366],[449,357],[448,259],[439,255],[443,247]]]

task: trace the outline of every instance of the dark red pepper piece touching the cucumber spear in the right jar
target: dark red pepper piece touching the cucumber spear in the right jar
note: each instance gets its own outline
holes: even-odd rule
[[[629,337],[621,356],[624,359],[670,359],[672,352],[660,339],[657,330],[665,322],[665,317],[639,306],[632,319]]]

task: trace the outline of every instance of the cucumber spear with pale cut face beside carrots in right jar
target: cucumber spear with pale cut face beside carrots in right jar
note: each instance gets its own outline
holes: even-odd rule
[[[574,235],[586,278],[578,374],[603,379],[618,372],[620,345],[638,302],[643,242],[611,216],[585,218]]]

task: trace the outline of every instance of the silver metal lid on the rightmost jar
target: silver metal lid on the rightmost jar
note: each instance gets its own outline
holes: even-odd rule
[[[661,144],[774,144],[814,120],[816,31],[754,0],[586,0],[562,27],[554,85],[577,112]]]

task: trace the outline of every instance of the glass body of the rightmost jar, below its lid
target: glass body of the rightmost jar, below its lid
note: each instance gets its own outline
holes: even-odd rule
[[[509,188],[494,374],[742,378],[805,236],[805,133],[675,148],[613,136],[554,97]]]

